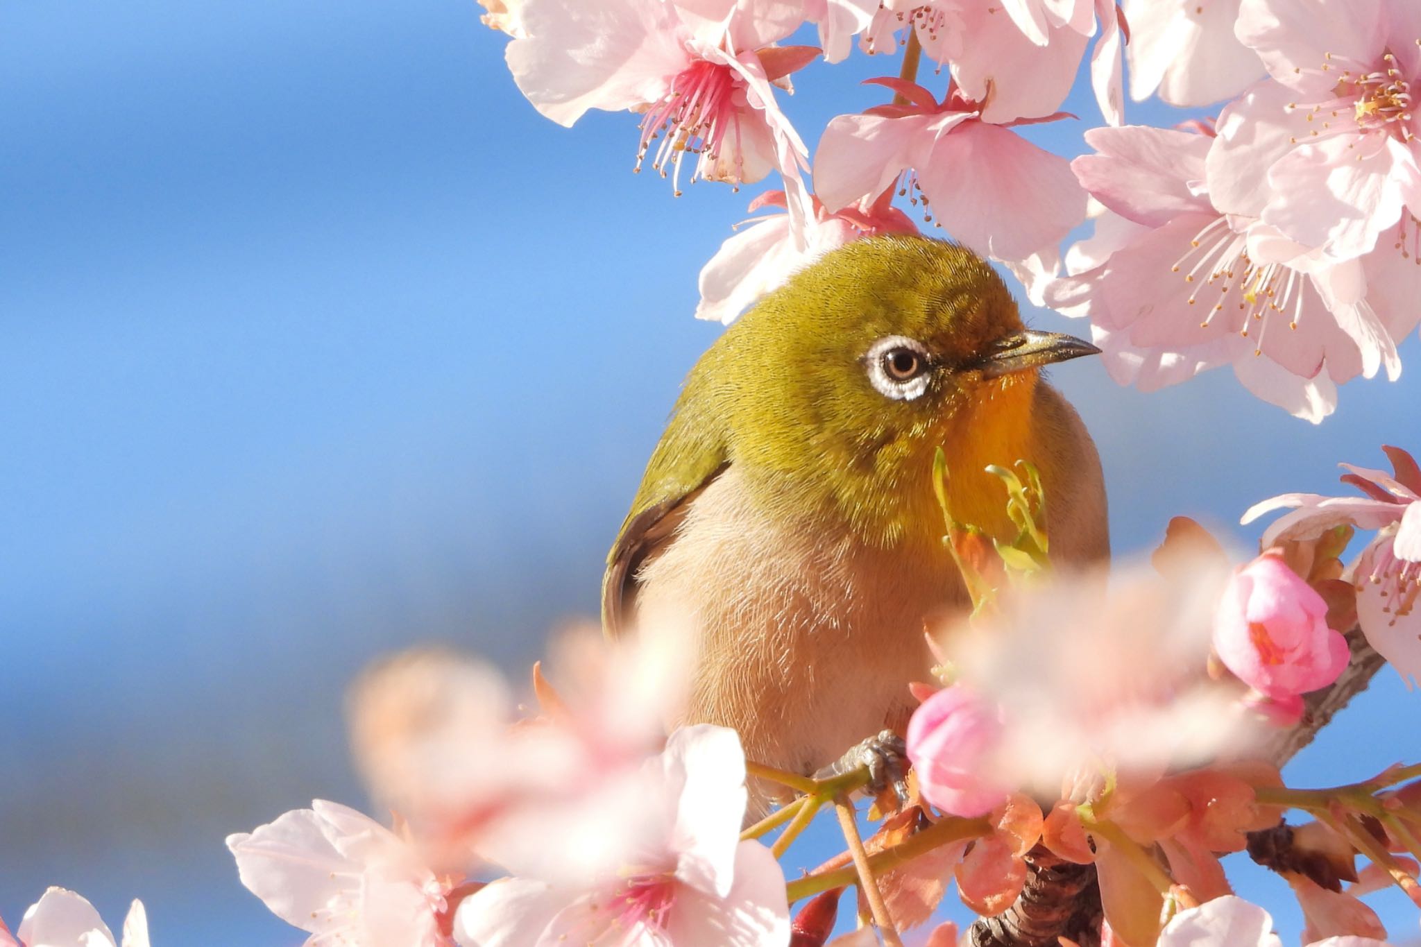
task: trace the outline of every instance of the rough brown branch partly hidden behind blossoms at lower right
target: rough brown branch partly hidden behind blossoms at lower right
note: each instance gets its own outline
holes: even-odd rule
[[[1371,683],[1385,663],[1371,649],[1360,628],[1346,635],[1351,660],[1331,687],[1303,699],[1303,717],[1296,726],[1269,740],[1263,758],[1282,767],[1313,741],[1333,716]],[[1046,947],[1067,937],[1081,947],[1100,940],[1100,887],[1094,865],[1060,863],[1042,858],[1042,849],[1026,859],[1026,887],[1016,902],[996,917],[979,917],[971,929],[973,947]]]

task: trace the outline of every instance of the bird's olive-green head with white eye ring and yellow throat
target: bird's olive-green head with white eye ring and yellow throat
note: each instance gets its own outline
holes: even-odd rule
[[[1037,369],[1097,351],[1027,329],[971,250],[885,236],[797,273],[698,373],[726,413],[733,460],[786,501],[830,503],[891,544],[932,501],[936,447],[953,476],[1029,457]]]

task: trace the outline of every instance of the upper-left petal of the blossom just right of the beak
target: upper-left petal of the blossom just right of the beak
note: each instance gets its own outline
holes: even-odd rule
[[[1081,155],[1071,170],[1081,187],[1121,217],[1161,227],[1189,212],[1212,212],[1189,183],[1204,177],[1212,141],[1164,128],[1127,125],[1093,128],[1086,143],[1096,155]]]

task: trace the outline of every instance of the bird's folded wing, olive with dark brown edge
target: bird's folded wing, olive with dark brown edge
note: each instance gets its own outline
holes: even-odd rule
[[[666,548],[691,501],[730,466],[719,420],[678,410],[651,454],[631,513],[607,554],[603,630],[608,637],[627,629],[635,605],[637,572]]]

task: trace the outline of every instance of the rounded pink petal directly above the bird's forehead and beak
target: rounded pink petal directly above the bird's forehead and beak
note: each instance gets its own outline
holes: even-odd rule
[[[1086,217],[1086,192],[1064,158],[985,122],[941,136],[918,179],[952,234],[998,260],[1053,247]]]

